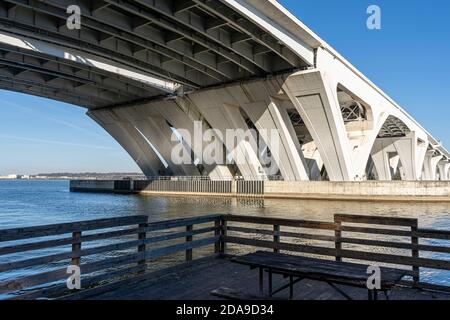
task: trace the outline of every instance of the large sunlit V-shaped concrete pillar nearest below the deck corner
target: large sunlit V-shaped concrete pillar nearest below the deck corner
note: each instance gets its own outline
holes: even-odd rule
[[[321,70],[289,76],[283,89],[302,117],[331,181],[366,179],[370,151],[381,126],[383,114],[373,115],[356,125],[346,126],[338,96],[338,82]]]

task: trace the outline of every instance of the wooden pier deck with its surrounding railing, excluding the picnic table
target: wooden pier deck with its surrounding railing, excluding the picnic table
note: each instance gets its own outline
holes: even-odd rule
[[[449,299],[450,287],[421,274],[424,268],[449,272],[449,241],[449,230],[420,228],[416,219],[364,215],[335,215],[330,222],[236,215],[150,222],[132,216],[5,229],[0,298],[217,299],[214,293],[225,290],[236,299],[266,299],[258,287],[266,281],[261,272],[233,262],[263,250],[337,266],[395,268],[406,277],[390,299]],[[67,289],[69,265],[80,267],[80,290]],[[270,272],[270,286],[287,288],[286,274],[261,270]],[[297,278],[292,298],[367,299],[365,288],[321,280]],[[288,299],[289,290],[271,298]]]

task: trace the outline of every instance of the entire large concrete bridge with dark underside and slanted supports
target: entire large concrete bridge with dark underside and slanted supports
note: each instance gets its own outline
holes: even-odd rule
[[[441,143],[275,0],[3,0],[0,88],[87,108],[147,176],[270,179],[254,139],[284,180],[450,179]],[[257,134],[202,164],[196,127]]]

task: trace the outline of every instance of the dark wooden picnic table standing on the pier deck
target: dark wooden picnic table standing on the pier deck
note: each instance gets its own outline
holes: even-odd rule
[[[351,297],[336,285],[367,288],[368,299],[377,300],[378,291],[383,291],[388,299],[388,291],[395,287],[408,274],[407,270],[381,267],[379,289],[369,289],[367,280],[371,274],[367,273],[369,265],[322,260],[302,256],[292,256],[282,253],[257,251],[231,259],[232,262],[259,269],[259,291],[264,295],[264,272],[268,273],[269,297],[284,289],[290,289],[290,299],[294,295],[294,284],[311,279],[326,282],[346,299]],[[272,275],[278,274],[289,277],[289,283],[273,290]]]

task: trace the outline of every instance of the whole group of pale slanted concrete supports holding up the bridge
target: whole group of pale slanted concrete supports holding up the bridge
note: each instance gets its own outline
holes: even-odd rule
[[[372,155],[380,180],[391,180],[399,167],[403,180],[419,180],[422,171],[424,178],[436,179],[436,166],[442,159],[427,158],[424,166],[429,145],[426,132],[402,110],[389,109],[389,101],[378,97],[364,79],[344,75],[347,69],[329,58],[326,68],[202,89],[140,106],[92,111],[92,117],[147,175],[208,174],[228,179],[231,168],[246,180],[267,179],[280,172],[285,180],[299,181],[320,180],[325,168],[331,181],[359,181],[366,178]],[[341,105],[354,102],[362,112],[344,120]],[[302,118],[295,128],[288,114],[293,108]],[[200,144],[196,140],[199,127]],[[258,133],[249,134],[249,128]],[[203,141],[207,129],[215,130],[215,140],[225,151],[223,161],[197,161],[209,145]],[[401,134],[406,136],[393,137]],[[263,163],[264,150],[257,141],[271,151],[271,163]],[[188,161],[174,160],[175,149],[183,151]],[[236,166],[229,165],[232,161]],[[439,170],[441,177],[449,175],[447,167]]]

